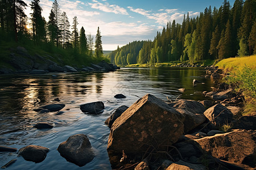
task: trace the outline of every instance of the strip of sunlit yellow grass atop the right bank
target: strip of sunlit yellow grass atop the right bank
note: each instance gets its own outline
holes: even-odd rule
[[[236,58],[226,58],[222,59],[216,64],[220,69],[224,71],[233,71],[234,69],[243,69],[247,66],[251,69],[256,69],[256,55],[249,57],[236,57]]]

